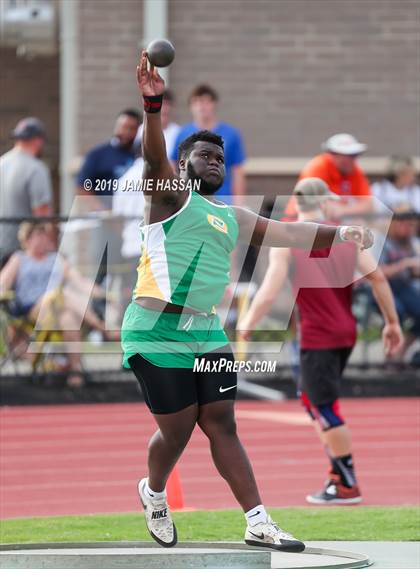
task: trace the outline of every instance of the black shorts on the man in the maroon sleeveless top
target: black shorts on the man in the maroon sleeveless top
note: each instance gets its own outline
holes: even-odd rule
[[[353,348],[300,351],[299,389],[313,405],[339,398],[340,380]]]

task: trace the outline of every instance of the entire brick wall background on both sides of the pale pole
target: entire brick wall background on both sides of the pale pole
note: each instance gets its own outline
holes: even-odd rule
[[[177,118],[198,82],[221,95],[250,156],[310,156],[337,131],[372,155],[418,154],[420,5],[410,0],[169,0]],[[80,7],[80,149],[137,103],[142,2]]]

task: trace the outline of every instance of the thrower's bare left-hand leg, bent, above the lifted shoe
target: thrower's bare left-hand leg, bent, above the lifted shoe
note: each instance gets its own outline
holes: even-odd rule
[[[149,442],[149,486],[155,492],[163,492],[173,467],[190,440],[197,422],[198,405],[153,417],[159,429]]]

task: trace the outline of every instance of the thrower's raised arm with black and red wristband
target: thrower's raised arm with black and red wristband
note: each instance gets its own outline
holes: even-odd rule
[[[137,67],[137,84],[144,99],[142,152],[143,178],[167,180],[175,178],[166,154],[160,108],[165,82],[155,67],[148,64],[147,53],[142,51]]]

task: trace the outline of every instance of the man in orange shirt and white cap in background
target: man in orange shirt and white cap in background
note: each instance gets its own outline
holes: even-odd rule
[[[369,199],[352,197],[370,196],[369,181],[357,164],[357,158],[366,151],[366,144],[359,142],[351,134],[335,134],[322,145],[325,152],[315,156],[303,168],[303,178],[321,178],[336,194],[343,196],[340,202],[330,202],[327,216],[337,219],[345,215],[370,213],[372,203]],[[296,199],[291,197],[285,210],[287,217],[296,217]]]

